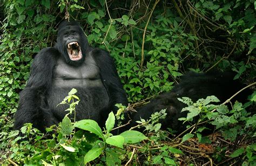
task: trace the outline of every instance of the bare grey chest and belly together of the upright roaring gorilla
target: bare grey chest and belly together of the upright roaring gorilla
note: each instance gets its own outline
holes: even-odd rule
[[[58,119],[63,119],[67,113],[64,110],[68,109],[69,105],[58,104],[68,96],[72,88],[76,88],[76,95],[80,99],[76,106],[77,120],[99,120],[100,110],[109,105],[109,95],[100,79],[100,70],[94,59],[89,55],[83,64],[70,66],[60,57],[52,72],[52,86],[47,99],[53,114]]]

